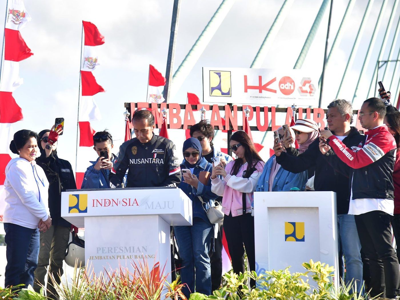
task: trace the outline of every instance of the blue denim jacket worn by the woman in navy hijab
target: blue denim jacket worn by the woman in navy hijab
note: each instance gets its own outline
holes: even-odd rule
[[[186,160],[184,160],[180,168],[181,170],[189,169],[190,165],[186,162]],[[193,175],[196,175],[196,177],[198,178],[201,171],[207,171],[210,173],[212,172],[212,164],[207,162],[204,157],[202,157],[200,164],[194,167]],[[202,208],[202,203],[197,196],[201,196],[203,198],[203,201],[206,203],[206,205],[204,205],[205,209],[208,209],[210,206],[214,206],[213,200],[215,200],[218,196],[211,192],[211,179],[208,180],[206,186],[199,181],[196,189],[190,184],[184,183],[182,176],[182,182],[178,185],[178,188],[180,188],[186,194],[186,196],[188,196],[190,200],[192,200],[193,218],[199,217],[202,218],[204,221],[210,223],[207,218],[206,212]]]

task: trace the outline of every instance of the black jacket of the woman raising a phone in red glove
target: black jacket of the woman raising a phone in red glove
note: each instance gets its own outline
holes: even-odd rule
[[[36,163],[42,167],[49,182],[48,203],[52,225],[70,227],[71,223],[61,217],[61,192],[76,189],[70,162],[50,153],[48,157],[46,154],[39,156]]]

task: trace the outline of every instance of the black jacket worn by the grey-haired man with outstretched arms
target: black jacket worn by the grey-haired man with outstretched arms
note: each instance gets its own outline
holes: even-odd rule
[[[365,136],[361,135],[357,128],[351,127],[350,133],[344,138],[343,143],[350,148],[357,146],[364,139]],[[348,174],[344,176],[328,164],[324,155],[320,152],[319,143],[318,138],[298,156],[290,156],[282,152],[280,156],[276,157],[276,162],[292,173],[300,173],[315,166],[314,189],[316,191],[336,192],[337,214],[347,214],[350,204]]]

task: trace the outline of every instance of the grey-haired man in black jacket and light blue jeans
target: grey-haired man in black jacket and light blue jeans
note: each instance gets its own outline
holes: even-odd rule
[[[328,105],[326,114],[328,126],[340,137],[349,148],[356,147],[364,139],[355,127],[350,127],[353,119],[353,109],[346,100],[334,100]],[[362,286],[362,261],[360,256],[360,240],[358,238],[354,216],[348,214],[349,209],[349,178],[336,172],[324,159],[319,149],[319,139],[299,156],[290,156],[280,150],[281,144],[275,144],[276,162],[285,170],[300,173],[315,166],[314,189],[316,191],[336,192],[336,209],[338,214],[338,242],[346,261],[346,284],[356,280],[357,291]],[[340,258],[339,266],[342,265]],[[343,266],[342,266],[343,268]],[[344,275],[344,269],[341,270]]]

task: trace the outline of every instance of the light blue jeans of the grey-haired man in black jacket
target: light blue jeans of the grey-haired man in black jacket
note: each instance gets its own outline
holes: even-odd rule
[[[361,261],[361,244],[358,238],[356,222],[354,215],[338,214],[338,242],[339,248],[342,247],[344,261],[346,263],[345,284],[349,284],[353,280],[357,283],[357,293],[360,292],[362,286],[362,261]],[[339,264],[342,258],[339,257]],[[342,275],[342,274],[340,274]],[[342,276],[341,276],[342,277]]]

